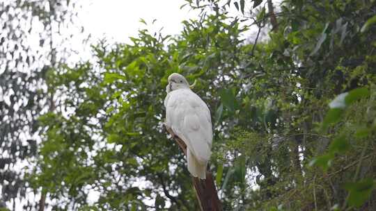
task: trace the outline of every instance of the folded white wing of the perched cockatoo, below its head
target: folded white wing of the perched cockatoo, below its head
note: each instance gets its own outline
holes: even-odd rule
[[[200,164],[207,164],[212,147],[212,121],[205,102],[189,89],[169,92],[166,124],[187,144]]]

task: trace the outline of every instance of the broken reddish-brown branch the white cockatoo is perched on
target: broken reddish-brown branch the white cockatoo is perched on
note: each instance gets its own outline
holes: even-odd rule
[[[173,133],[173,130],[166,126],[167,132],[171,134],[175,142],[180,146],[180,149],[187,155],[187,145],[183,140]],[[201,211],[221,211],[222,205],[218,198],[217,188],[215,187],[212,173],[206,171],[206,179],[201,180],[198,177],[191,177],[194,189],[196,190],[196,197],[200,205]]]

